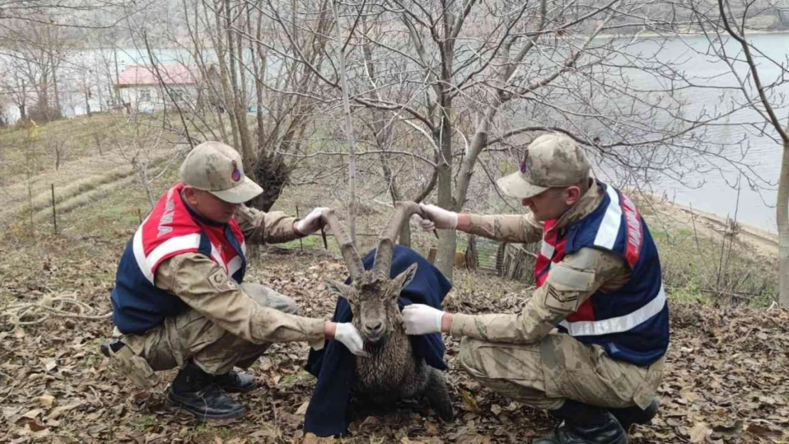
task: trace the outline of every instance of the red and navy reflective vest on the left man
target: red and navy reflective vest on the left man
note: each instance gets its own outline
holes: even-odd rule
[[[183,253],[202,254],[235,282],[246,271],[244,234],[234,219],[217,225],[200,220],[181,198],[183,184],[170,188],[126,244],[112,290],[112,319],[123,334],[141,334],[188,306],[154,284],[156,268]]]

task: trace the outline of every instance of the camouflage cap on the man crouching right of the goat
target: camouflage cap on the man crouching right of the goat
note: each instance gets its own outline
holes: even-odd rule
[[[589,159],[574,140],[563,134],[544,134],[523,154],[520,170],[496,185],[508,196],[528,199],[552,187],[567,187],[589,177]]]

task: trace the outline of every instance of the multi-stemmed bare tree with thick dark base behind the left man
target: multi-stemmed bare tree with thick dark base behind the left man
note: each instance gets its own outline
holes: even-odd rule
[[[260,2],[183,0],[186,38],[159,38],[189,51],[189,60],[182,63],[198,78],[199,99],[177,110],[180,131],[193,132],[195,140],[223,140],[236,147],[245,170],[264,188],[251,204],[267,211],[290,181],[297,159],[290,162],[286,154],[303,148],[320,98],[313,94],[315,74],[286,55],[292,43],[271,32]],[[331,24],[331,9],[325,9],[305,22],[306,28],[297,28],[295,39],[310,48],[305,57],[314,65],[326,58],[323,46]]]

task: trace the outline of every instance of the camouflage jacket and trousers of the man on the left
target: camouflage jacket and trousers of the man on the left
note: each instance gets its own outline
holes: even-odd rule
[[[241,206],[236,220],[252,244],[297,238],[294,218]],[[208,276],[219,274],[219,281]],[[115,336],[153,371],[182,368],[191,357],[204,371],[223,374],[234,365],[247,368],[271,342],[308,341],[323,347],[323,319],[297,316],[293,299],[255,283],[235,285],[206,256],[185,253],[157,268],[155,285],[184,300],[190,309],[145,334]]]

